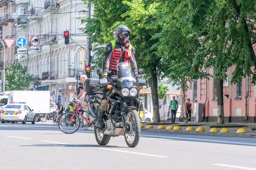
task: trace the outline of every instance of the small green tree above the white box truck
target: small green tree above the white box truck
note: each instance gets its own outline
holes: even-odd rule
[[[23,90],[27,88],[31,82],[35,82],[33,75],[26,74],[27,66],[22,67],[18,60],[7,65],[5,71],[6,90]]]

